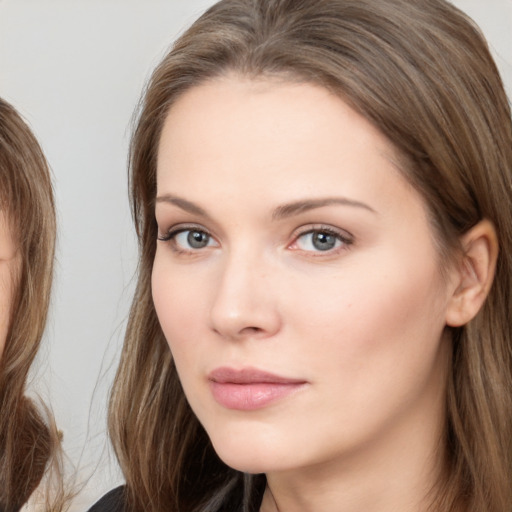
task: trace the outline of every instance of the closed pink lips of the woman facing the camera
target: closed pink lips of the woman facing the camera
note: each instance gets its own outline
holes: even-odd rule
[[[282,400],[301,389],[305,380],[256,368],[216,368],[208,374],[213,398],[227,409],[253,411]]]

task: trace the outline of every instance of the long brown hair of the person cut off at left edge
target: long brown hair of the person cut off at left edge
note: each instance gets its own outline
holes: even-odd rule
[[[0,359],[0,509],[17,511],[52,467],[54,501],[60,510],[60,439],[48,410],[25,396],[29,369],[46,324],[56,237],[48,165],[16,110],[0,99],[0,210],[16,246],[18,268],[5,347]],[[50,485],[50,483],[48,483]]]

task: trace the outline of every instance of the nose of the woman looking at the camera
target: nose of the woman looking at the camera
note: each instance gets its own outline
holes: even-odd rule
[[[212,329],[230,340],[269,338],[281,328],[275,269],[264,258],[233,254],[220,271],[213,298]]]

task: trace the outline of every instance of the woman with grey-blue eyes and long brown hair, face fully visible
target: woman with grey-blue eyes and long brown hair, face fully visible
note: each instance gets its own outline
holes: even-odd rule
[[[207,11],[132,140],[126,486],[93,510],[511,510],[511,170],[443,0]]]

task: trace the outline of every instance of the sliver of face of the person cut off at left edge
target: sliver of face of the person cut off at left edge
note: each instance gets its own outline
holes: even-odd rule
[[[0,211],[0,356],[4,351],[11,315],[13,276],[18,266],[16,244],[8,219]]]

